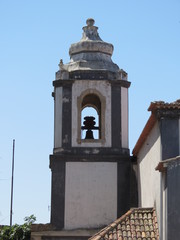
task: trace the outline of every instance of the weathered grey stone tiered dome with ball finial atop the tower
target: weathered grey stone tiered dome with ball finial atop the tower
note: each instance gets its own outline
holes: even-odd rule
[[[82,39],[72,44],[69,49],[70,62],[63,64],[60,60],[60,71],[56,73],[56,80],[68,79],[69,73],[79,70],[111,72],[114,74],[111,78],[121,80],[124,71],[111,59],[113,45],[99,37],[98,27],[94,26],[92,18],[87,19],[86,23],[87,26],[83,27]],[[123,80],[127,80],[125,72],[123,77]]]

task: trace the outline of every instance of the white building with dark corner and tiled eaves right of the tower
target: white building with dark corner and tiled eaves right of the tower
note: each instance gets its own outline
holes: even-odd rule
[[[180,100],[153,102],[133,150],[140,207],[155,207],[162,240],[180,239]]]

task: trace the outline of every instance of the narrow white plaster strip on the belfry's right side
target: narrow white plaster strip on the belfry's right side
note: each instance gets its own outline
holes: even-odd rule
[[[128,89],[121,88],[121,136],[122,147],[129,148],[128,139]]]

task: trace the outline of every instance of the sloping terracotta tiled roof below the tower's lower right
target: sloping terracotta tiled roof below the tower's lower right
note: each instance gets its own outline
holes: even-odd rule
[[[134,208],[89,240],[157,240],[158,224],[154,208]]]

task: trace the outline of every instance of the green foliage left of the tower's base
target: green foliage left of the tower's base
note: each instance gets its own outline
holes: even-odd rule
[[[4,226],[0,229],[1,240],[30,240],[31,224],[36,221],[36,217],[31,215],[24,218],[23,225],[15,224],[12,227]]]

